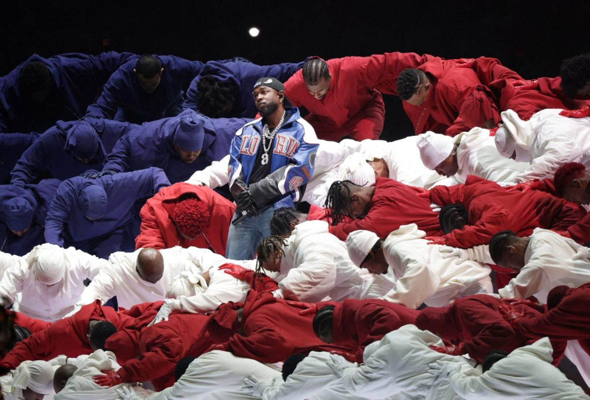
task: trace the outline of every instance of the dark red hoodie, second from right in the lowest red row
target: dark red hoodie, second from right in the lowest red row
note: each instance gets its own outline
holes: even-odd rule
[[[514,309],[527,316],[540,314],[525,305],[511,306],[506,300],[487,294],[461,297],[445,307],[426,307],[416,319],[416,326],[429,330],[455,345],[463,344],[463,354],[482,362],[492,350],[512,352],[517,347],[530,345],[530,339],[504,320],[500,306]],[[565,342],[552,340],[553,361],[557,365],[565,351]]]

